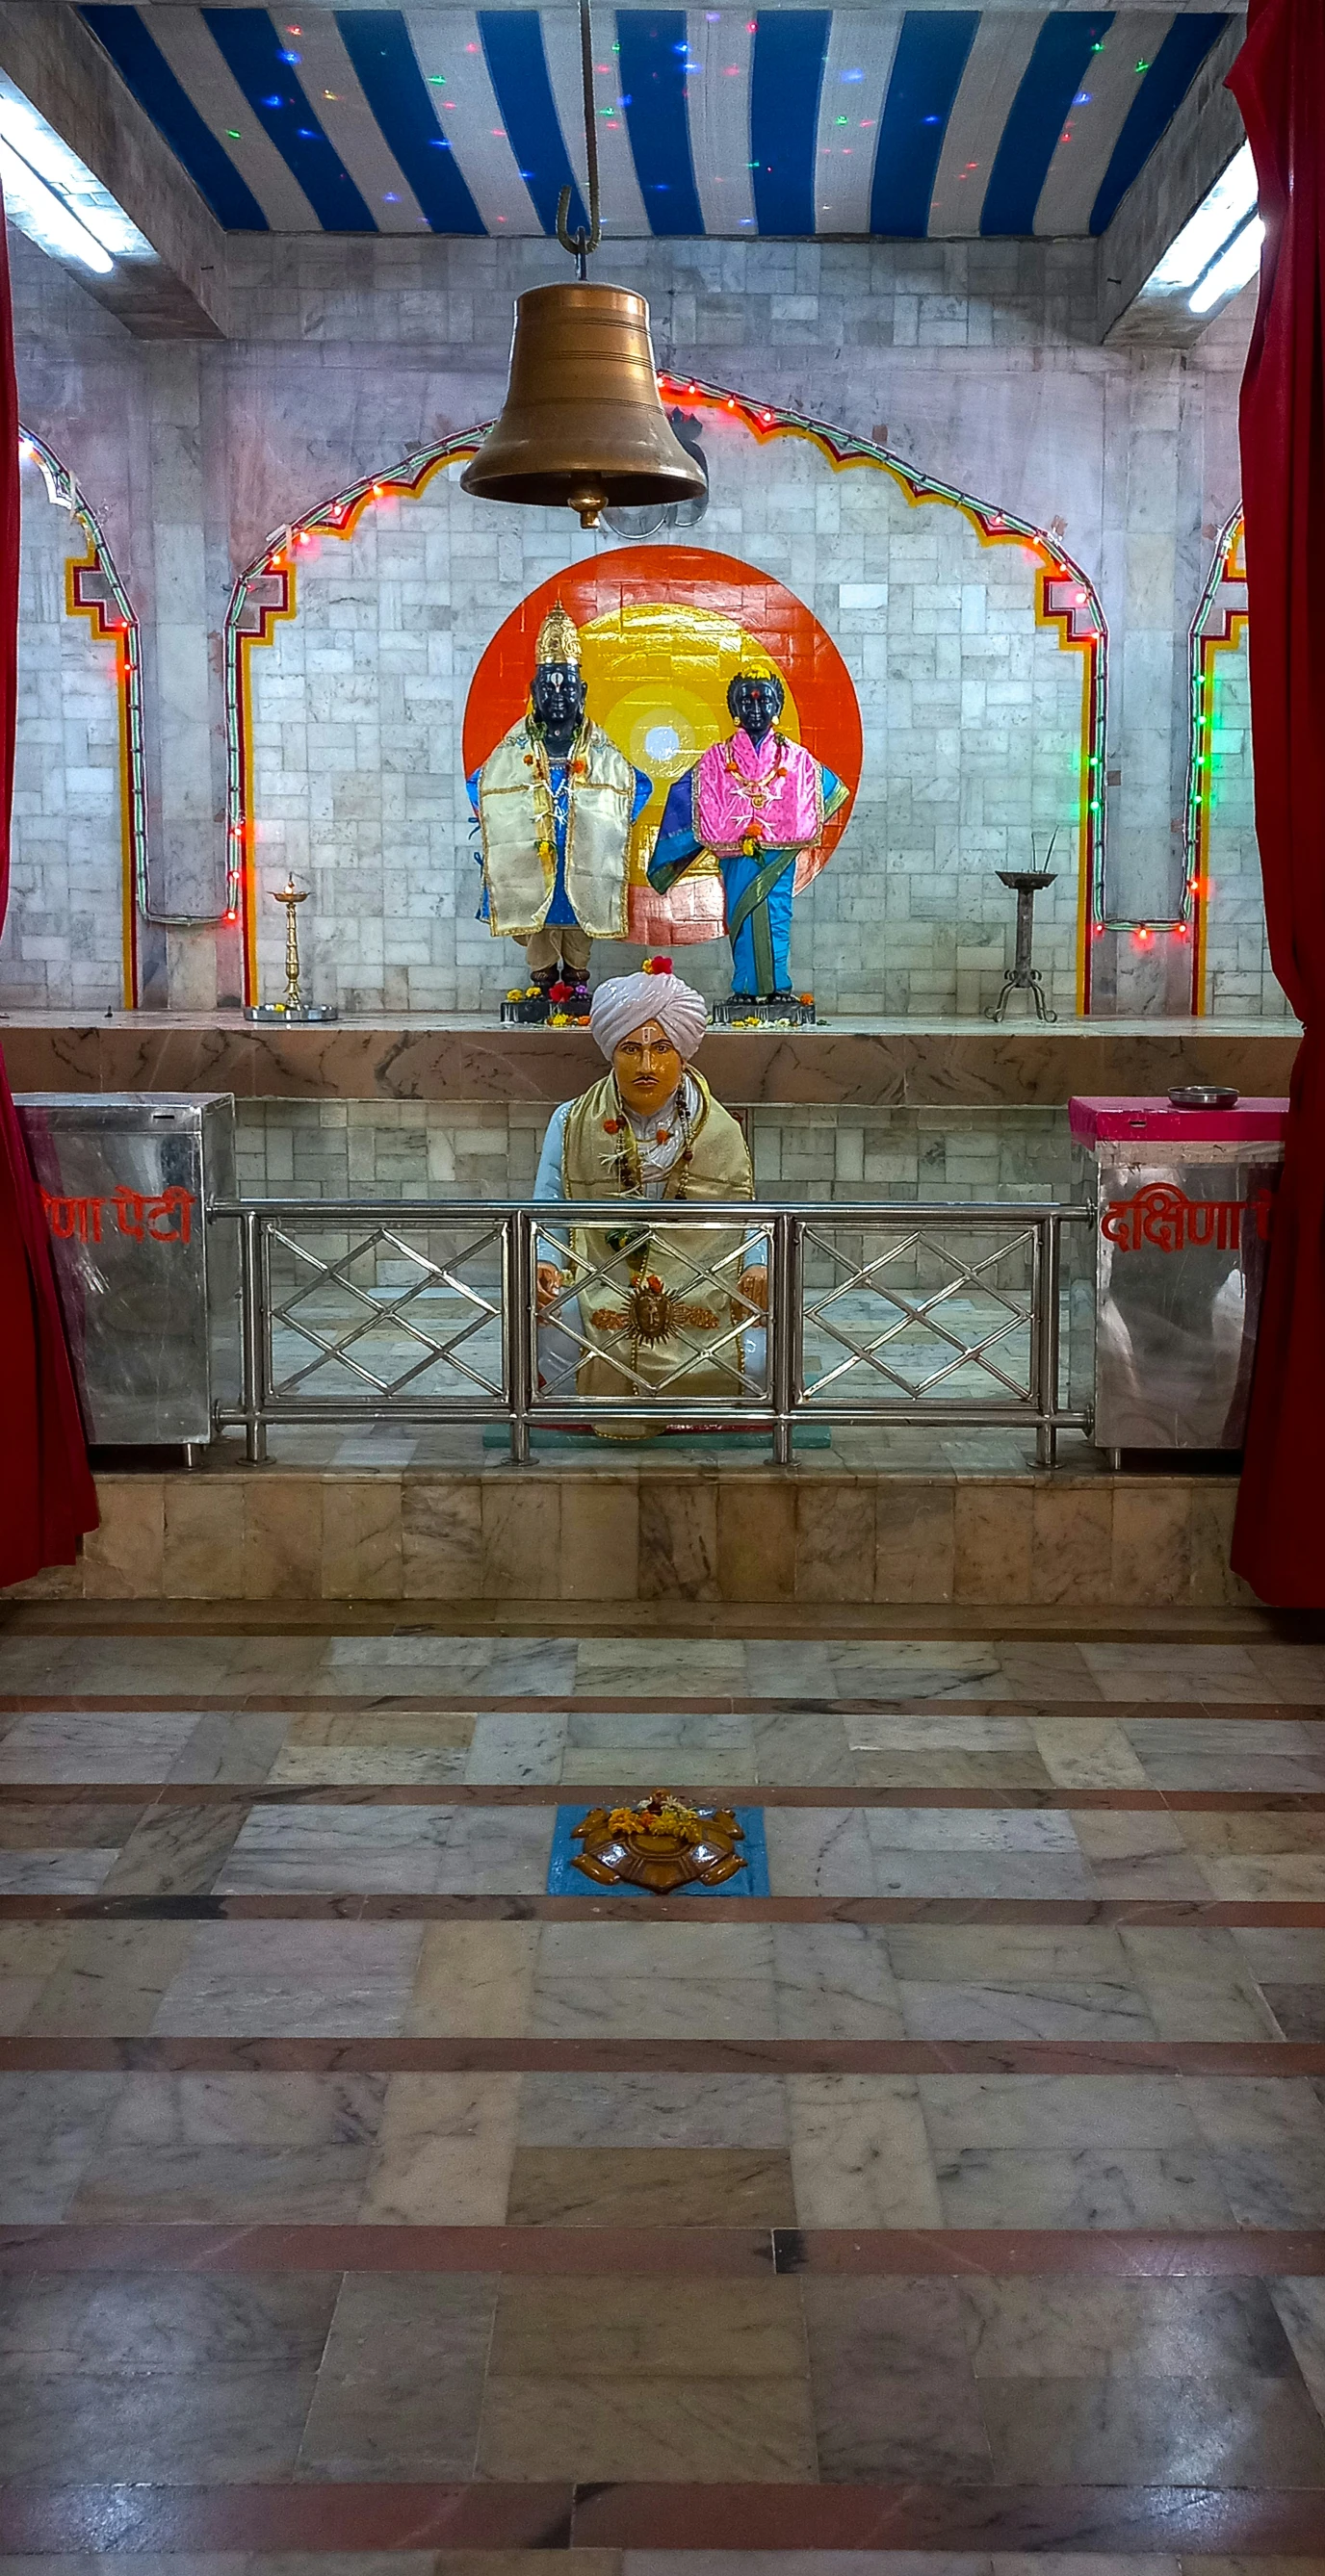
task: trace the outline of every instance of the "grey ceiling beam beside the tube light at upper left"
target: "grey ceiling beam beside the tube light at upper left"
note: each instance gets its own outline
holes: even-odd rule
[[[139,340],[224,337],[224,232],[77,10],[0,0],[0,70],[152,245],[106,278],[72,263],[70,276]]]

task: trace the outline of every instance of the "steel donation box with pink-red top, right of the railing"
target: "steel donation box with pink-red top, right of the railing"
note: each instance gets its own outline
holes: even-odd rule
[[[1286,1100],[1070,1103],[1075,1188],[1096,1211],[1080,1285],[1098,1448],[1243,1445],[1286,1115]]]

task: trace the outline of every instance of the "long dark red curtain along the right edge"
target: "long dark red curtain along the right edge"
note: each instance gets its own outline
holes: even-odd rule
[[[1255,837],[1273,971],[1304,1023],[1232,1564],[1325,1607],[1325,5],[1250,0],[1230,72],[1261,180],[1243,376]]]

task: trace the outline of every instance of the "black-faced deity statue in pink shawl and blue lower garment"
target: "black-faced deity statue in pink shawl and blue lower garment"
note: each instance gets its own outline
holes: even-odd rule
[[[773,672],[737,672],[727,706],[737,732],[714,742],[675,781],[662,806],[650,886],[668,894],[696,858],[717,858],[732,943],[732,1002],[789,1002],[797,876],[851,791],[804,742],[779,732],[781,680]]]

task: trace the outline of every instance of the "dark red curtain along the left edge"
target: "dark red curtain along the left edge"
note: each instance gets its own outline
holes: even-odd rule
[[[18,714],[18,384],[0,198],[0,927],[10,891]],[[0,1056],[0,1584],[67,1566],[95,1486],[54,1296],[46,1218]]]

